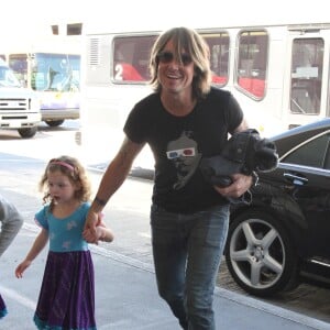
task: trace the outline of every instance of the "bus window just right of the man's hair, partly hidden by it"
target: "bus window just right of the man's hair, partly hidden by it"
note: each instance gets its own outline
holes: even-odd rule
[[[227,32],[202,34],[210,48],[212,82],[224,86],[229,69],[229,34]]]

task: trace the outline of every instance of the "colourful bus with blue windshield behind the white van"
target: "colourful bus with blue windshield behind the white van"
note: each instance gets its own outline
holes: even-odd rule
[[[81,36],[50,35],[1,47],[22,86],[36,91],[42,121],[50,127],[80,118],[80,46]]]

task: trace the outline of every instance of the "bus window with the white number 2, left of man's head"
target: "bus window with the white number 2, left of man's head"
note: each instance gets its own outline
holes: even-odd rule
[[[155,35],[116,37],[113,40],[113,80],[145,82],[150,80],[148,61]]]

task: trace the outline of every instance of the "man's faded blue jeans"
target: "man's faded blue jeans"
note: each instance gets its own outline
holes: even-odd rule
[[[158,293],[183,329],[212,330],[213,292],[229,224],[229,206],[195,213],[151,209]]]

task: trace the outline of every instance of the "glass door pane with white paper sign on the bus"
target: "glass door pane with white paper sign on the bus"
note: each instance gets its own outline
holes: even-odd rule
[[[296,38],[293,42],[290,111],[319,114],[323,69],[322,38]]]

